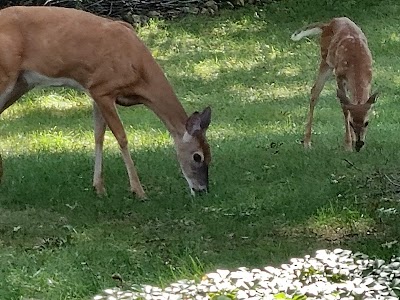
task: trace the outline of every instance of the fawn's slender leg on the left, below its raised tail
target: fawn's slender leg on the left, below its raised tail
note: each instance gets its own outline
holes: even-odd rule
[[[324,88],[325,82],[328,80],[331,74],[332,68],[325,61],[322,61],[319,66],[317,79],[311,89],[310,110],[308,111],[306,132],[304,135],[304,148],[311,147],[311,127],[314,116],[314,108],[317,104],[319,95]]]

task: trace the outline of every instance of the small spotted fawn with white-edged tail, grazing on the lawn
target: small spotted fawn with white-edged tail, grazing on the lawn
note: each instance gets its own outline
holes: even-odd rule
[[[372,56],[361,29],[348,18],[335,18],[329,23],[308,25],[292,34],[298,41],[305,36],[321,34],[321,62],[318,76],[311,89],[304,147],[311,147],[311,126],[314,107],[332,71],[337,82],[337,97],[345,119],[345,148],[358,152],[364,145],[368,112],[377,98],[370,95]],[[346,95],[350,93],[350,98]]]

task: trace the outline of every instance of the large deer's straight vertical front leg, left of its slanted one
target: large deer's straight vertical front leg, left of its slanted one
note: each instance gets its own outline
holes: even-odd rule
[[[93,188],[96,190],[97,195],[101,196],[106,194],[103,181],[103,143],[106,132],[106,121],[96,102],[93,102],[93,119],[95,141]]]

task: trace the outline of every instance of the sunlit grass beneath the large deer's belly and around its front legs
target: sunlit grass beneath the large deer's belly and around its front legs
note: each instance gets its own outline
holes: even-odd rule
[[[34,90],[28,93],[20,102],[2,114],[4,127],[8,126],[7,122],[10,121],[21,124],[20,130],[11,133],[7,130],[2,131],[6,136],[6,139],[0,142],[3,153],[20,155],[43,151],[50,153],[92,151],[94,133],[91,101],[87,95],[69,89],[56,89],[50,92]],[[132,148],[139,150],[171,144],[170,136],[165,129],[142,129],[135,119],[129,120],[130,112],[134,113],[134,109],[121,110],[123,118],[128,123],[125,130]],[[67,120],[69,114],[74,115],[76,120]],[[32,118],[31,115],[42,115],[42,117]],[[32,130],[32,128],[37,129]],[[106,131],[105,149],[118,151],[118,144],[109,130]]]

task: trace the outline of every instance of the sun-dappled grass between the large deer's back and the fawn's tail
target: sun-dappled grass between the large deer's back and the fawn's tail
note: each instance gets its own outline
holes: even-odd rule
[[[204,69],[209,62],[229,71],[250,69],[260,62],[273,62],[293,56],[287,45],[271,42],[276,39],[275,33],[270,33],[265,40],[260,41],[258,35],[265,30],[263,28],[265,23],[254,23],[254,20],[248,18],[228,19],[218,22],[214,26],[209,24],[204,30],[208,30],[209,34],[218,37],[216,39],[205,39],[207,35],[204,30],[191,32],[183,25],[175,28],[175,34],[172,35],[163,26],[163,22],[159,24],[153,22],[149,26],[142,27],[139,35],[148,44],[153,56],[161,61],[170,75],[185,74],[187,70],[182,70],[182,65],[187,65],[191,69],[191,66],[196,66],[197,63],[200,68]],[[246,35],[243,35],[243,32],[246,32]],[[244,36],[247,38],[243,39]],[[221,43],[221,38],[226,41]],[[249,55],[250,53],[251,55]],[[176,63],[173,62],[175,60]],[[211,71],[208,75],[214,71],[210,66],[208,69]],[[201,73],[201,75],[205,75],[204,72]],[[205,77],[208,76],[205,75]]]

